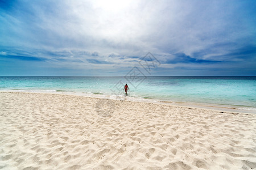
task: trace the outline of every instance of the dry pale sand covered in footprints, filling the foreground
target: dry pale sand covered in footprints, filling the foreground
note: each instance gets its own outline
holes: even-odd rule
[[[0,92],[0,169],[256,169],[256,114]]]

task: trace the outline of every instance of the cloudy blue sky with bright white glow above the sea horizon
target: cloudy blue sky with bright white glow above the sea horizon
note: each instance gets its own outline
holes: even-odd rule
[[[253,0],[0,0],[0,25],[0,76],[256,75]]]

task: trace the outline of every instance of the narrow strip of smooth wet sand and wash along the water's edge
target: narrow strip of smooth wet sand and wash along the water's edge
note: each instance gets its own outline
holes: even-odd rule
[[[139,103],[154,103],[154,104],[166,104],[166,105],[173,105],[173,106],[181,106],[181,107],[193,107],[193,108],[202,108],[202,109],[213,109],[216,111],[225,111],[225,112],[237,112],[237,113],[250,113],[250,114],[256,114],[256,110],[250,110],[250,109],[242,109],[238,105],[220,105],[220,104],[212,104],[212,103],[192,103],[188,101],[170,101],[170,100],[162,100],[162,99],[144,99],[144,98],[136,98],[136,97],[127,97],[127,96],[121,96],[121,97],[113,97],[108,95],[102,95],[102,94],[90,94],[85,92],[72,92],[72,91],[42,91],[42,90],[34,90],[34,91],[26,91],[26,90],[7,90],[7,91],[0,91],[0,92],[16,92],[16,93],[31,93],[31,94],[56,94],[56,95],[71,95],[71,96],[83,96],[83,97],[91,97],[95,99],[109,99],[109,100],[125,100],[125,101],[133,101],[133,102],[139,102]],[[251,108],[251,107],[245,107],[245,108]]]

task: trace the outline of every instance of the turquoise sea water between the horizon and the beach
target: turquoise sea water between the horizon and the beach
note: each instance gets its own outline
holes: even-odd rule
[[[256,110],[256,76],[0,77],[0,91],[80,92],[134,98],[224,104]]]

